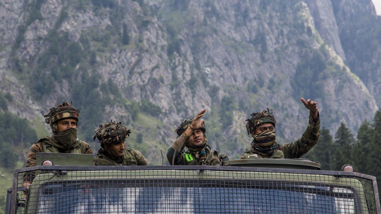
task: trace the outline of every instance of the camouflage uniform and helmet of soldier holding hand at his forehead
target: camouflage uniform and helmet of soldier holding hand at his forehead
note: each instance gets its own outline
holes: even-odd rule
[[[191,125],[193,119],[185,120],[175,130],[177,133],[177,139],[173,145],[168,149],[166,154],[167,159],[171,165],[211,165],[221,166],[223,161],[228,161],[229,157],[224,153],[219,153],[214,150],[211,152],[211,148],[208,145],[206,136],[205,123],[202,123],[201,130],[204,134],[204,143],[198,147],[193,148],[188,144],[190,136],[187,136],[185,130]],[[183,152],[184,147],[188,150]]]

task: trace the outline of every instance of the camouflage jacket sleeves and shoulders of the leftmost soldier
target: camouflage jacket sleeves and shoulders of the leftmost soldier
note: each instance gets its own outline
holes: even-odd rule
[[[44,137],[39,141],[35,142],[29,149],[26,166],[35,166],[36,165],[36,155],[37,152],[52,152],[60,153],[59,148],[54,147],[53,145],[46,144],[45,141],[51,141],[51,137]],[[85,141],[77,140],[77,146],[70,150],[69,153],[78,153],[78,154],[93,154],[93,150],[88,143]],[[24,177],[24,182],[31,182],[34,179],[34,174],[29,174],[29,176]]]

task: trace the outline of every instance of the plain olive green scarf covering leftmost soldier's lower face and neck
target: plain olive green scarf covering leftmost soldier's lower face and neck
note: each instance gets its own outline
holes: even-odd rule
[[[51,145],[60,149],[71,149],[77,145],[77,129],[68,128],[58,133],[53,134],[51,137]]]

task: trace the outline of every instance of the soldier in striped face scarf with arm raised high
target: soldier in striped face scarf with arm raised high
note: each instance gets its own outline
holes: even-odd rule
[[[247,133],[253,136],[251,149],[245,152],[240,159],[253,158],[300,158],[319,141],[320,117],[317,102],[301,98],[306,109],[310,110],[309,124],[302,137],[297,141],[280,146],[275,142],[276,120],[269,109],[251,114],[247,119]]]

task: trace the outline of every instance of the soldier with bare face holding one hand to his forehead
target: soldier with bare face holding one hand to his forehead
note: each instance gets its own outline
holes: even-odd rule
[[[185,120],[175,130],[177,140],[168,149],[167,158],[171,165],[212,165],[220,166],[228,161],[227,155],[219,153],[208,145],[204,120],[200,118],[205,113],[203,109],[196,117]],[[184,147],[186,152],[182,152]]]

